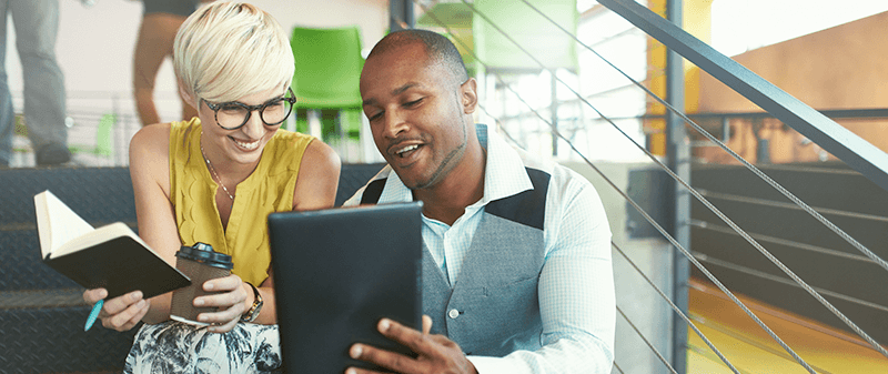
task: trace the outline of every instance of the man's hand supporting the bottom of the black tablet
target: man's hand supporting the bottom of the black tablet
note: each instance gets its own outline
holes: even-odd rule
[[[416,358],[380,350],[366,344],[354,344],[349,355],[355,360],[366,361],[397,373],[442,373],[442,374],[477,374],[472,362],[466,360],[463,350],[444,335],[430,335],[432,319],[423,316],[423,332],[406,327],[392,320],[383,319],[376,328],[385,337],[411,348]],[[365,368],[349,367],[346,374],[373,374],[377,372]]]

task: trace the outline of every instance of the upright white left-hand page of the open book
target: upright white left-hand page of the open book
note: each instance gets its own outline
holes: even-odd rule
[[[67,242],[93,231],[92,225],[49,190],[34,196],[34,209],[43,259]]]

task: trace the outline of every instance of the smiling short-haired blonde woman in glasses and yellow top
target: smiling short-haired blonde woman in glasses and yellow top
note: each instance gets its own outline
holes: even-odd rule
[[[211,244],[230,254],[232,275],[208,281],[221,291],[194,299],[215,306],[199,328],[170,321],[171,294],[108,300],[100,319],[125,331],[144,322],[125,373],[254,373],[280,366],[266,215],[333,205],[340,160],[312,137],[279,130],[295,98],[286,33],[254,6],[200,8],[175,37],[173,65],[198,117],[152,124],[130,145],[139,234],[168,262],[181,245]],[[95,303],[105,290],[88,290]]]

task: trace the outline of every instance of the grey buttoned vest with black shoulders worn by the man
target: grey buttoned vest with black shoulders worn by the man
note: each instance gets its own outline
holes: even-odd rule
[[[433,320],[432,333],[447,335],[466,354],[501,357],[542,345],[537,283],[549,174],[526,171],[534,189],[485,206],[453,287],[423,249],[423,314]],[[377,202],[384,185],[384,179],[371,182],[361,203]]]

